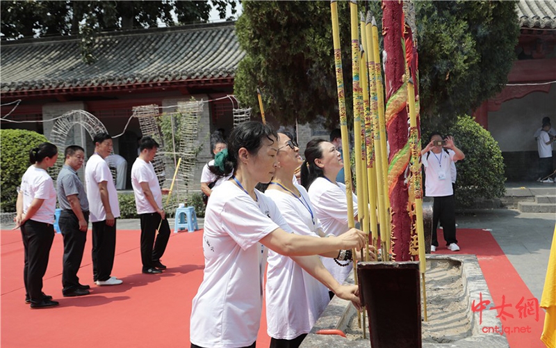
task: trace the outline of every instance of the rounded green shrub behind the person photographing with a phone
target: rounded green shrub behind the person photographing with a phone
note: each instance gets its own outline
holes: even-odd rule
[[[430,129],[423,132],[423,147],[433,130],[454,136],[455,144],[465,154],[457,161],[455,184],[456,203],[460,207],[471,207],[476,198],[500,198],[504,196],[504,161],[498,143],[489,131],[473,118],[459,116],[450,129]]]

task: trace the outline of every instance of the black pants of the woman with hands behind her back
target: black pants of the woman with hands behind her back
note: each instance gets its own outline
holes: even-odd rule
[[[42,277],[47,271],[50,248],[54,241],[54,226],[50,223],[27,220],[21,230],[25,254],[25,296],[28,296],[31,302],[39,303],[42,301]]]

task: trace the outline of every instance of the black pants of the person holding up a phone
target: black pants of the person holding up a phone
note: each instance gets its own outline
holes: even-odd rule
[[[454,195],[445,197],[434,197],[432,205],[432,245],[439,246],[436,237],[436,228],[439,221],[444,229],[444,240],[446,245],[457,243],[456,239],[456,213]]]

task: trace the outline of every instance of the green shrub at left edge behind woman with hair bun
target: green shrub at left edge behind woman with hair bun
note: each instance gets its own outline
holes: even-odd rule
[[[37,132],[26,129],[0,129],[0,209],[15,212],[16,188],[29,163],[29,150],[47,141]]]

